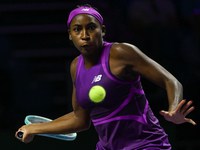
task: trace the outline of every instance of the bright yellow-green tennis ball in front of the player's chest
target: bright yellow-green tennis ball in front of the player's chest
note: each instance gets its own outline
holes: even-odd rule
[[[90,100],[95,103],[102,102],[104,98],[106,97],[106,91],[102,86],[95,85],[90,89],[89,97],[90,97]]]

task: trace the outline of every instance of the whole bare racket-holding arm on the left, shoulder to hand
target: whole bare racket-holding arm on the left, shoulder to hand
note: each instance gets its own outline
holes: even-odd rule
[[[72,62],[71,76],[74,83],[76,76],[77,59]],[[51,122],[22,126],[24,131],[22,141],[28,143],[33,140],[35,134],[67,134],[86,130],[90,127],[89,113],[82,109],[76,101],[76,89],[73,84],[72,105],[74,111]]]

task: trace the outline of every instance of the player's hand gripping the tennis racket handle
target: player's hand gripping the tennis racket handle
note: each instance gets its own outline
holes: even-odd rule
[[[19,138],[17,137],[17,132],[18,132],[18,131],[23,131],[23,138],[22,138],[22,139],[19,139]],[[28,134],[28,125],[22,126],[21,128],[19,128],[18,131],[15,133],[15,137],[16,137],[18,140],[20,140],[20,141],[22,141],[22,142],[24,142],[24,143],[29,143],[29,142],[31,142],[31,141],[33,140],[34,135],[33,135],[33,134]]]

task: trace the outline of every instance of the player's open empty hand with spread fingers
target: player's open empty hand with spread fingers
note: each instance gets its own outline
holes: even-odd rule
[[[175,124],[181,124],[181,123],[191,123],[193,125],[196,125],[196,123],[189,118],[185,118],[190,112],[194,110],[194,106],[190,107],[192,104],[192,101],[189,101],[186,103],[186,100],[182,100],[175,110],[173,111],[160,111],[160,114],[164,116],[164,118],[167,121],[173,122]]]

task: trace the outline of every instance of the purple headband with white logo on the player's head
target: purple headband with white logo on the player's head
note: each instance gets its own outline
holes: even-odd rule
[[[89,15],[92,15],[94,16],[97,20],[99,20],[100,24],[103,25],[103,17],[92,7],[78,7],[74,10],[72,10],[69,14],[69,18],[68,18],[68,21],[67,21],[67,26],[69,28],[69,24],[70,22],[72,21],[72,19],[79,15],[79,14],[89,14]]]

